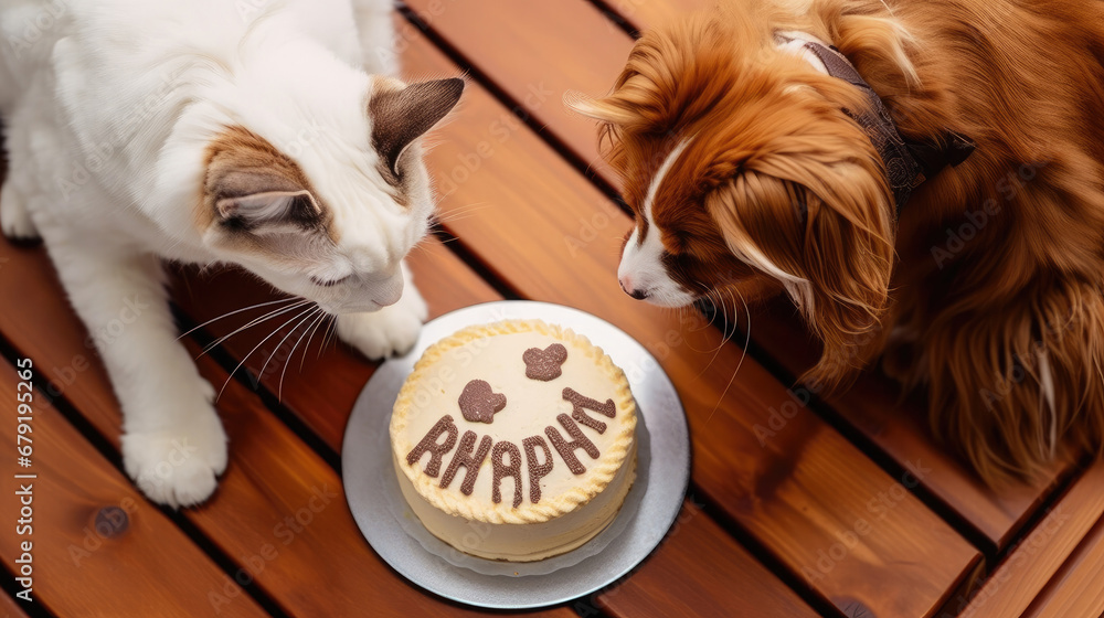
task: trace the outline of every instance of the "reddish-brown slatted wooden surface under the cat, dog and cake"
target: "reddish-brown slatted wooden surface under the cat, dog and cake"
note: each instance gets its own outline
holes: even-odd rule
[[[864,375],[826,401],[796,385],[816,347],[792,307],[753,310],[744,358],[746,319],[726,340],[697,312],[618,289],[630,220],[593,126],[561,97],[604,93],[634,32],[704,3],[411,0],[395,17],[406,73],[466,72],[469,82],[428,159],[443,228],[411,256],[432,313],[502,298],[590,311],[660,360],[689,417],[691,487],[665,542],[617,584],[531,614],[1100,616],[1100,464],[1065,462],[1034,484],[989,490],[933,440],[923,402],[883,377]],[[240,273],[169,269],[182,327],[270,297]],[[391,571],[346,505],[342,431],[375,364],[318,339],[290,359],[278,337],[261,345],[217,404],[231,439],[217,493],[174,512],[121,472],[118,404],[41,247],[0,242],[0,298],[4,436],[15,427],[19,359],[33,361],[38,395],[35,601],[0,599],[6,615],[480,614]],[[199,355],[250,317],[184,341]],[[222,385],[265,334],[234,335],[199,359],[201,372]],[[22,566],[8,528],[18,518],[12,476],[26,471],[14,459],[0,458],[9,595]]]

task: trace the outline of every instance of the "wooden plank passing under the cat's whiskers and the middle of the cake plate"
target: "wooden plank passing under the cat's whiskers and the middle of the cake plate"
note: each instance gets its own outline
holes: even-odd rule
[[[436,316],[460,306],[500,298],[439,243],[431,242],[426,246],[428,247],[426,252],[412,254],[412,267],[415,280],[429,305],[431,315]],[[173,286],[178,290],[174,295],[177,302],[197,321],[206,321],[226,311],[270,298],[268,296],[270,292],[265,286],[257,285],[252,278],[237,273],[220,271],[210,277],[184,273],[178,274],[173,279]],[[231,318],[213,323],[210,328],[217,334],[224,334],[232,332],[245,321],[246,318],[238,317],[237,320]],[[225,349],[235,358],[242,358],[268,332],[268,330],[243,332],[227,340]],[[280,337],[273,339],[278,342]],[[278,352],[274,343],[270,347],[262,345],[255,353],[256,358],[251,356],[245,366],[251,369],[254,375],[259,375],[265,359],[273,352],[276,352],[274,361],[265,369],[261,383],[272,392],[283,388],[284,404],[308,426],[316,430],[320,429],[320,437],[332,449],[340,450],[349,412],[375,365],[340,345],[327,345],[319,355],[316,344],[306,352],[307,362],[304,364],[301,375],[298,356],[295,356],[290,359],[290,370],[282,381],[283,370],[279,367],[287,362],[286,355]],[[693,513],[697,515],[700,511]],[[678,525],[680,530],[687,529],[690,532],[682,534],[678,542],[666,544],[664,555],[655,556],[648,562],[655,566],[646,573],[665,574],[667,592],[657,594],[700,600],[707,608],[720,605],[733,610],[743,608],[744,611],[752,612],[765,605],[794,607],[794,612],[790,615],[803,615],[796,609],[803,605],[796,595],[763,568],[723,530],[709,521],[708,516],[689,518],[689,521]],[[712,553],[705,552],[705,547],[711,548]],[[702,563],[703,555],[709,555],[710,560]],[[699,564],[698,568],[703,569],[721,568],[718,573],[740,573],[742,574],[740,585],[714,586],[713,582],[705,578],[705,587],[702,587],[702,579],[696,574],[682,573],[688,564]],[[648,578],[647,575],[644,577]],[[697,605],[690,604],[688,607],[698,611]],[[704,609],[702,611],[704,612]]]

